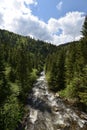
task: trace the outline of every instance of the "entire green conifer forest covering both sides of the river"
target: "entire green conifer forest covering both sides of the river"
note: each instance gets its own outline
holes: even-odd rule
[[[60,46],[0,30],[0,129],[14,130],[44,69],[49,90],[87,112],[87,17],[83,37]],[[10,111],[10,113],[9,113]]]

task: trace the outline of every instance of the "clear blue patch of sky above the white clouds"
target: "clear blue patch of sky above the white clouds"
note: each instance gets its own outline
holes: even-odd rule
[[[36,7],[31,6],[32,13],[45,22],[51,17],[60,18],[67,12],[87,12],[87,0],[37,0],[37,2]],[[60,5],[60,9],[57,5]]]

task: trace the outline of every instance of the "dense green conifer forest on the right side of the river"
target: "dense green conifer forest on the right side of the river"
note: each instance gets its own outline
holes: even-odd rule
[[[82,34],[81,40],[58,46],[45,70],[50,90],[87,106],[87,17]]]

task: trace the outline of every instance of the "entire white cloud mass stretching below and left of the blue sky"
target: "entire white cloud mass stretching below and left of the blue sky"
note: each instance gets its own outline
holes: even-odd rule
[[[32,15],[30,4],[36,0],[0,0],[0,28],[59,45],[80,38],[84,21],[82,12],[69,12],[48,23]],[[60,32],[61,30],[61,32]]]

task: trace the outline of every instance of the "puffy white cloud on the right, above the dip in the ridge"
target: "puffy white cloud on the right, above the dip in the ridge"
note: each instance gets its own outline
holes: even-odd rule
[[[48,21],[48,28],[54,34],[53,43],[66,43],[80,39],[84,21],[83,14],[82,12],[69,12],[60,19],[51,18]],[[62,30],[62,33],[57,35],[59,30]]]

